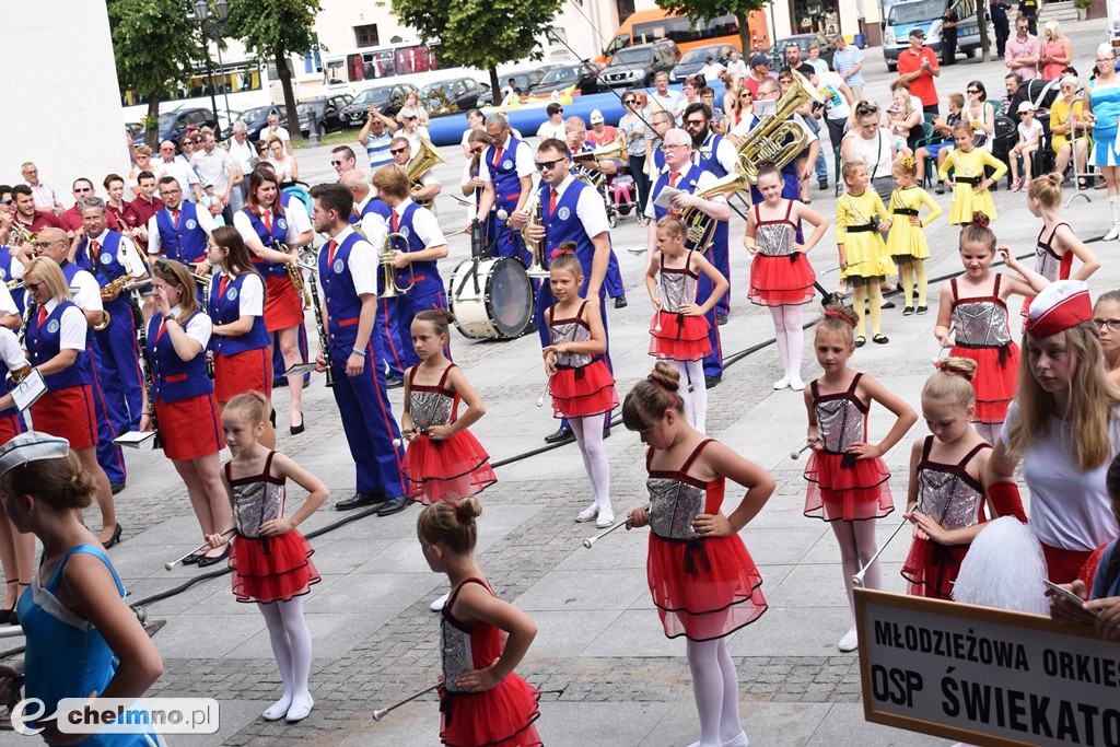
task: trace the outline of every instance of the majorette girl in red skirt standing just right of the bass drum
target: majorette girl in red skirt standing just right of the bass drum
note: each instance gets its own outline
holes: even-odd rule
[[[544,310],[551,344],[544,348],[544,373],[552,392],[552,411],[567,418],[584,456],[584,468],[595,489],[595,502],[576,521],[615,523],[610,507],[610,467],[603,449],[603,414],[618,407],[615,377],[601,356],[607,349],[599,310],[579,297],[584,269],[576,254],[562,246],[549,268],[556,305]],[[598,304],[599,301],[594,301]]]

